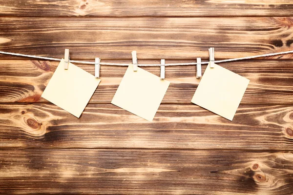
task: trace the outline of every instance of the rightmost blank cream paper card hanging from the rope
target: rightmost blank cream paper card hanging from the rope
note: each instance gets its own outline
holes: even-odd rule
[[[217,64],[208,65],[191,102],[232,120],[249,81]]]

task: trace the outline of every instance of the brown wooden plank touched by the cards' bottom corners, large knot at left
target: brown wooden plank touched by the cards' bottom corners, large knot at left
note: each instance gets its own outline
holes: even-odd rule
[[[233,121],[197,105],[161,105],[152,122],[112,104],[80,118],[53,104],[0,105],[0,146],[293,150],[293,106],[241,105]]]

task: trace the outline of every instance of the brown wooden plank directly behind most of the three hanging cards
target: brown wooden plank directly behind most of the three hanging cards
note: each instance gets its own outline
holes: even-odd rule
[[[104,62],[131,63],[131,60]],[[192,60],[166,61],[175,62]],[[160,64],[160,60],[140,60],[139,63]],[[58,64],[56,61],[0,60],[0,102],[47,102],[41,95]],[[77,65],[94,75],[93,65]],[[239,61],[220,65],[251,80],[242,104],[293,104],[293,61]],[[143,68],[160,76],[160,67]],[[205,68],[203,65],[203,72]],[[111,103],[125,71],[126,67],[102,65],[102,82],[90,103]],[[166,79],[171,84],[162,103],[191,104],[200,82],[195,66],[167,66]]]

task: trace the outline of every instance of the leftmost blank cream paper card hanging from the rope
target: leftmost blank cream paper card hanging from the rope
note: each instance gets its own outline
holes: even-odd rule
[[[42,98],[75,117],[80,117],[101,79],[95,78],[72,63],[69,63],[68,70],[65,70],[63,63],[64,59],[59,63]]]

